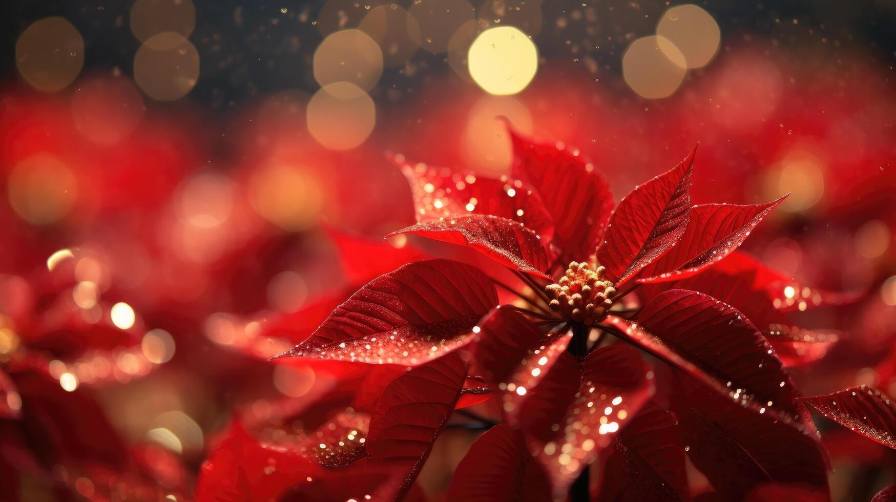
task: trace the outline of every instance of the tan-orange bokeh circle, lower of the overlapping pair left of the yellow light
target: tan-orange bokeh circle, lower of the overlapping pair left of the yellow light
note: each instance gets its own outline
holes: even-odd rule
[[[314,93],[307,108],[308,132],[331,150],[350,150],[374,130],[374,100],[357,85],[335,82]]]

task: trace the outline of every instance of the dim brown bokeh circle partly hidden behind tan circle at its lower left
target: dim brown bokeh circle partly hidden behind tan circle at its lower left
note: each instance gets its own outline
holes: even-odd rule
[[[370,10],[358,25],[383,51],[383,65],[404,65],[420,44],[420,24],[398,4],[380,5]]]

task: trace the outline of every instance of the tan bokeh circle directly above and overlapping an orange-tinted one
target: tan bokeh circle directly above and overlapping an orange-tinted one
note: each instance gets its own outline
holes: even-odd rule
[[[314,80],[351,82],[370,91],[383,74],[383,51],[361,30],[335,31],[314,51]]]

